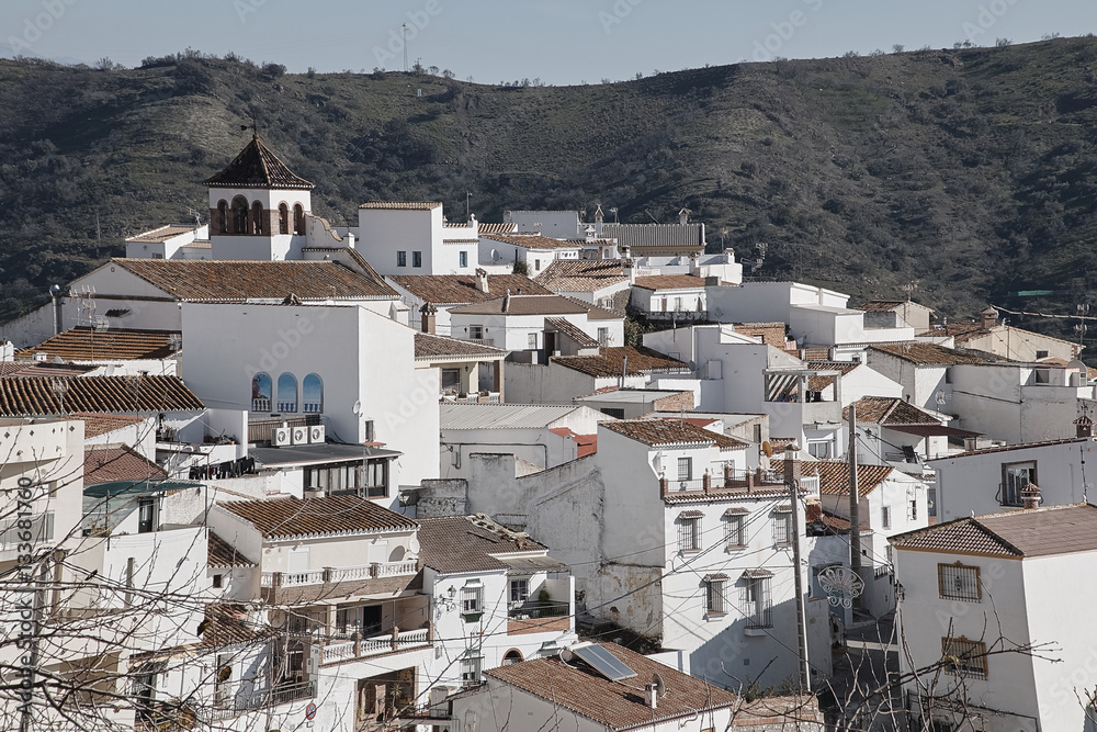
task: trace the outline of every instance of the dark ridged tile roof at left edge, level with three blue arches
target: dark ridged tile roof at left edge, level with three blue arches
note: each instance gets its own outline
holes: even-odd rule
[[[64,384],[61,396],[55,391]],[[0,415],[67,412],[200,412],[205,408],[178,376],[0,378]]]

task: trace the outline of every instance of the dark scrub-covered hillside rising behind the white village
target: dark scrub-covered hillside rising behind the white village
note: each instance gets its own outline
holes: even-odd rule
[[[578,87],[280,71],[193,53],[111,71],[0,60],[0,318],[124,236],[204,221],[201,181],[252,115],[336,224],[370,199],[441,200],[460,217],[466,191],[482,221],[688,206],[753,277],[855,297],[918,281],[915,299],[950,317],[988,301],[1073,313],[1092,296],[1092,37]],[[1007,296],[1033,290],[1053,294]],[[1072,327],[1022,327],[1055,325]]]

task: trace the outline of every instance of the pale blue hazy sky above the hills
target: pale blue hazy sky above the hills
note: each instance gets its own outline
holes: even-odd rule
[[[0,55],[135,66],[188,46],[291,71],[578,83],[705,64],[1097,31],[1094,0],[2,0]]]

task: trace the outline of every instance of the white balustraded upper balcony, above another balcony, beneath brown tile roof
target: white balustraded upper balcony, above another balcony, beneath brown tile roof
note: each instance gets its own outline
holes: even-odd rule
[[[399,592],[419,573],[418,562],[373,562],[307,572],[263,572],[260,594],[275,605],[310,601],[319,597]]]

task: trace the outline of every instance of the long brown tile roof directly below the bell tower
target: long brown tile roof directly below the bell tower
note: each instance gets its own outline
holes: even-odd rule
[[[392,288],[337,262],[214,261],[208,259],[112,259],[184,301],[242,302],[393,299]]]

